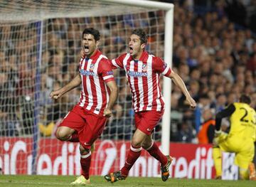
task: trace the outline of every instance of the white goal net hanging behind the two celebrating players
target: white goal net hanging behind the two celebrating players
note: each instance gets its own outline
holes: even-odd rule
[[[1,1],[0,9],[0,168],[4,174],[78,175],[78,144],[60,142],[54,132],[78,103],[80,87],[59,100],[49,94],[77,75],[83,29],[100,31],[100,50],[112,59],[127,50],[132,29],[144,28],[146,50],[164,58],[165,11],[85,0]],[[134,131],[124,71],[114,75],[119,97],[95,144],[90,171],[95,175],[119,169]],[[161,123],[154,139],[161,141]],[[151,161],[151,168],[155,165]]]

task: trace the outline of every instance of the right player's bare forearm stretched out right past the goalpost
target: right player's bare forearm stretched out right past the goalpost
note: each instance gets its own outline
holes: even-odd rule
[[[177,73],[175,73],[173,70],[171,71],[171,73],[167,77],[171,78],[171,80],[174,81],[175,85],[177,85],[181,89],[181,91],[183,92],[183,95],[186,96],[186,101],[188,102],[188,104],[192,108],[195,108],[196,107],[196,102],[195,102],[195,100],[193,100],[193,98],[189,94],[189,92],[186,88],[186,85],[183,82],[183,80],[181,79],[181,77]]]

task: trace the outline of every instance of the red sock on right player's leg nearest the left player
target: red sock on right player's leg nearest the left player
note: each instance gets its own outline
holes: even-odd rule
[[[121,169],[122,176],[128,176],[129,170],[132,168],[135,161],[139,158],[141,152],[141,146],[135,147],[131,145],[125,164]]]

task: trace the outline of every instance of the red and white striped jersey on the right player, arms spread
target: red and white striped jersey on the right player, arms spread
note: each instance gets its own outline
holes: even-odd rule
[[[134,60],[129,53],[124,53],[111,62],[112,68],[123,68],[126,72],[135,112],[164,109],[159,74],[169,75],[171,73],[169,65],[146,51],[139,60]]]

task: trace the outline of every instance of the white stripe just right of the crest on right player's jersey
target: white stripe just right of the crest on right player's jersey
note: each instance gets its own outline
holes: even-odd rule
[[[152,82],[152,55],[149,55],[149,58],[146,61],[147,69],[148,69],[148,102],[149,104],[146,107],[146,110],[152,109],[153,104],[153,82]]]

